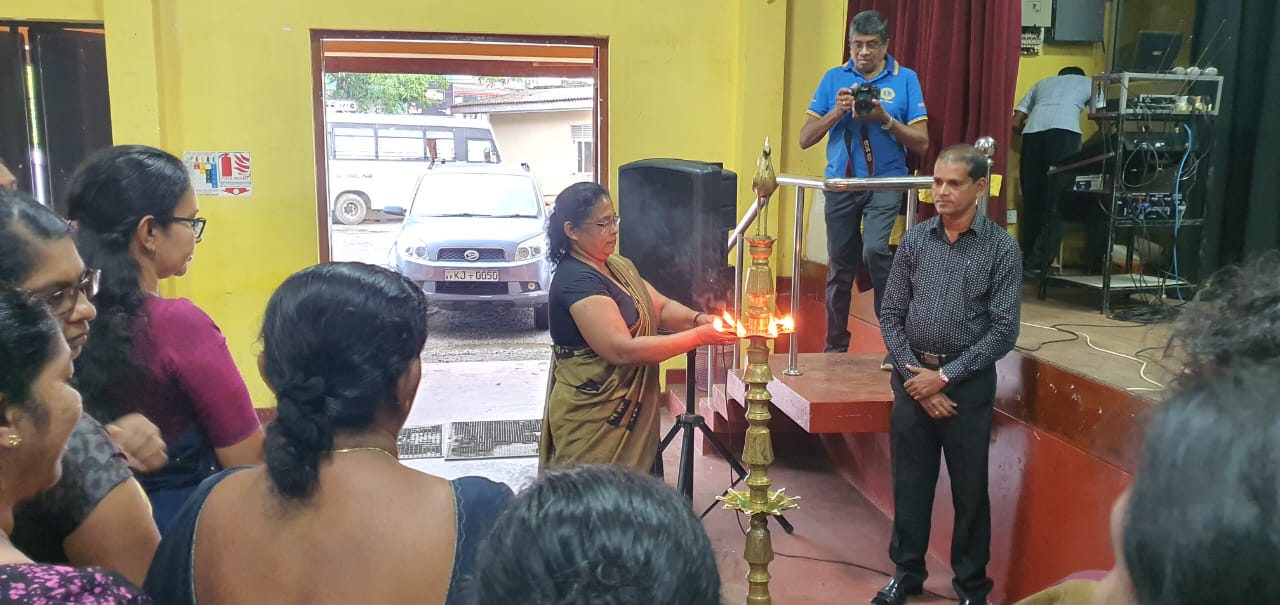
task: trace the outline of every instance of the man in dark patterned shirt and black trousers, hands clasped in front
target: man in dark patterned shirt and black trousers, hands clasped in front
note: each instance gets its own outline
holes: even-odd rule
[[[957,145],[933,166],[938,216],[911,228],[893,258],[881,333],[893,357],[893,578],[872,604],[899,605],[920,592],[928,570],[938,450],[955,503],[952,586],[961,605],[987,602],[991,501],[987,446],[996,359],[1018,340],[1021,253],[1000,225],[978,214],[987,159]]]

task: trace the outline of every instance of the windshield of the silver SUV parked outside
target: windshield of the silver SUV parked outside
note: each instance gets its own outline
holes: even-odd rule
[[[413,194],[413,216],[538,217],[541,200],[527,177],[428,174]]]

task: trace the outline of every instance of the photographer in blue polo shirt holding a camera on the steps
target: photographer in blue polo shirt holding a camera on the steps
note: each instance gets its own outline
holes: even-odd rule
[[[849,63],[828,69],[809,102],[800,148],[827,137],[826,177],[904,177],[906,150],[929,148],[924,95],[915,72],[888,55],[888,20],[874,10],[849,24]],[[849,350],[849,299],[861,262],[879,316],[893,255],[888,237],[902,192],[827,192],[827,352]],[[884,370],[892,370],[888,358]]]

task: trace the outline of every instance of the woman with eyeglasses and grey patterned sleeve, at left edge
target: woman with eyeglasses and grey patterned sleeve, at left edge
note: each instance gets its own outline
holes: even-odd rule
[[[0,191],[0,284],[47,304],[73,357],[96,316],[97,279],[84,269],[65,220],[27,193]],[[61,481],[17,508],[13,544],[41,563],[104,567],[141,585],[160,533],[131,467],[145,472],[166,462],[160,431],[141,414],[115,418],[106,430],[81,416]]]

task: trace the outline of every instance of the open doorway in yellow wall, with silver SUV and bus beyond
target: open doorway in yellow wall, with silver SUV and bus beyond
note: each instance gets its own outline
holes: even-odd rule
[[[321,258],[545,340],[550,202],[607,165],[605,41],[312,36]]]

